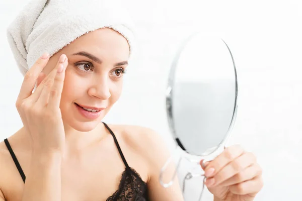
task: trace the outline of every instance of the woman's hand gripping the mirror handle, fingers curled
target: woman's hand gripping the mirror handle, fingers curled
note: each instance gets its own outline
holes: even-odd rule
[[[254,154],[239,145],[225,148],[214,160],[205,162],[206,186],[214,201],[252,201],[263,187],[262,169]]]

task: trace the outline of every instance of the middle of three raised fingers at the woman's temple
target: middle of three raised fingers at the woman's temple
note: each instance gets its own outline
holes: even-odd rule
[[[60,69],[62,66],[67,63],[66,62],[67,57],[66,55],[62,54],[59,62],[57,63],[56,67],[49,73],[49,76],[47,76],[46,80],[42,81],[43,84],[43,89],[41,90],[41,94],[37,99],[37,104],[40,106],[45,106],[48,104],[49,96],[50,96],[50,91],[53,88],[53,85],[56,83],[56,77],[57,77],[57,71]]]

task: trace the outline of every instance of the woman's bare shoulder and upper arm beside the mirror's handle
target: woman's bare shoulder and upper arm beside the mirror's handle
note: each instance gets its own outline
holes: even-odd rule
[[[165,178],[172,178],[172,175],[175,175],[173,184],[169,188],[164,188],[160,183],[162,168],[171,156],[168,142],[161,134],[141,126],[118,125],[116,128],[120,129],[119,137],[126,146],[134,149],[146,162],[150,199],[157,200],[160,197],[161,200],[183,200],[178,177],[174,174],[176,171],[174,163],[169,163],[165,169]],[[165,178],[163,180],[167,180]]]

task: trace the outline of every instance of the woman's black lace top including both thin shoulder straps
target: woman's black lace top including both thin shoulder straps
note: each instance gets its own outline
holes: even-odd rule
[[[122,177],[121,177],[118,189],[113,193],[113,195],[108,197],[106,199],[106,201],[147,201],[148,200],[147,184],[141,179],[139,174],[133,168],[129,167],[129,165],[124,157],[124,154],[117,142],[117,139],[116,139],[114,133],[108,127],[107,124],[105,124],[104,122],[103,122],[103,124],[108,129],[108,131],[111,133],[111,135],[114,139],[114,143],[115,143],[115,145],[120,153],[120,156],[126,166],[125,171],[122,173]],[[16,164],[16,167],[19,170],[19,173],[20,173],[23,181],[25,182],[25,179],[26,179],[25,174],[17,160],[17,157],[16,157],[8,139],[5,139],[4,141],[11,153],[11,156]]]

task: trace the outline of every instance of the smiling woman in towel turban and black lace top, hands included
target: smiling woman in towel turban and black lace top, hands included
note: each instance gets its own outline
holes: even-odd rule
[[[113,1],[83,2],[32,1],[9,29],[25,75],[24,127],[0,144],[0,200],[183,200],[177,179],[159,183],[169,152],[158,134],[102,122],[121,94],[132,35]],[[205,173],[214,200],[253,200],[262,188],[255,156],[240,146]]]

